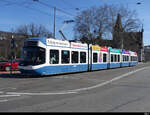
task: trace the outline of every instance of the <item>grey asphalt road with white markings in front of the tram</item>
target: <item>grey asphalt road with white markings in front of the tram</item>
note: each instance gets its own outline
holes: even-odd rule
[[[147,112],[150,63],[48,77],[0,74],[0,112]]]

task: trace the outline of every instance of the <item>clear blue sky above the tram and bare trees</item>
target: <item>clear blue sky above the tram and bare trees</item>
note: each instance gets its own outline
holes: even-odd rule
[[[141,4],[138,5],[137,3]],[[73,20],[82,10],[104,4],[128,5],[136,10],[144,28],[144,45],[150,45],[150,0],[0,0],[0,31],[12,32],[24,24],[42,24],[51,32],[56,10],[56,38],[62,39],[58,30],[62,29],[68,40],[74,38],[74,23],[64,26],[65,20]]]

